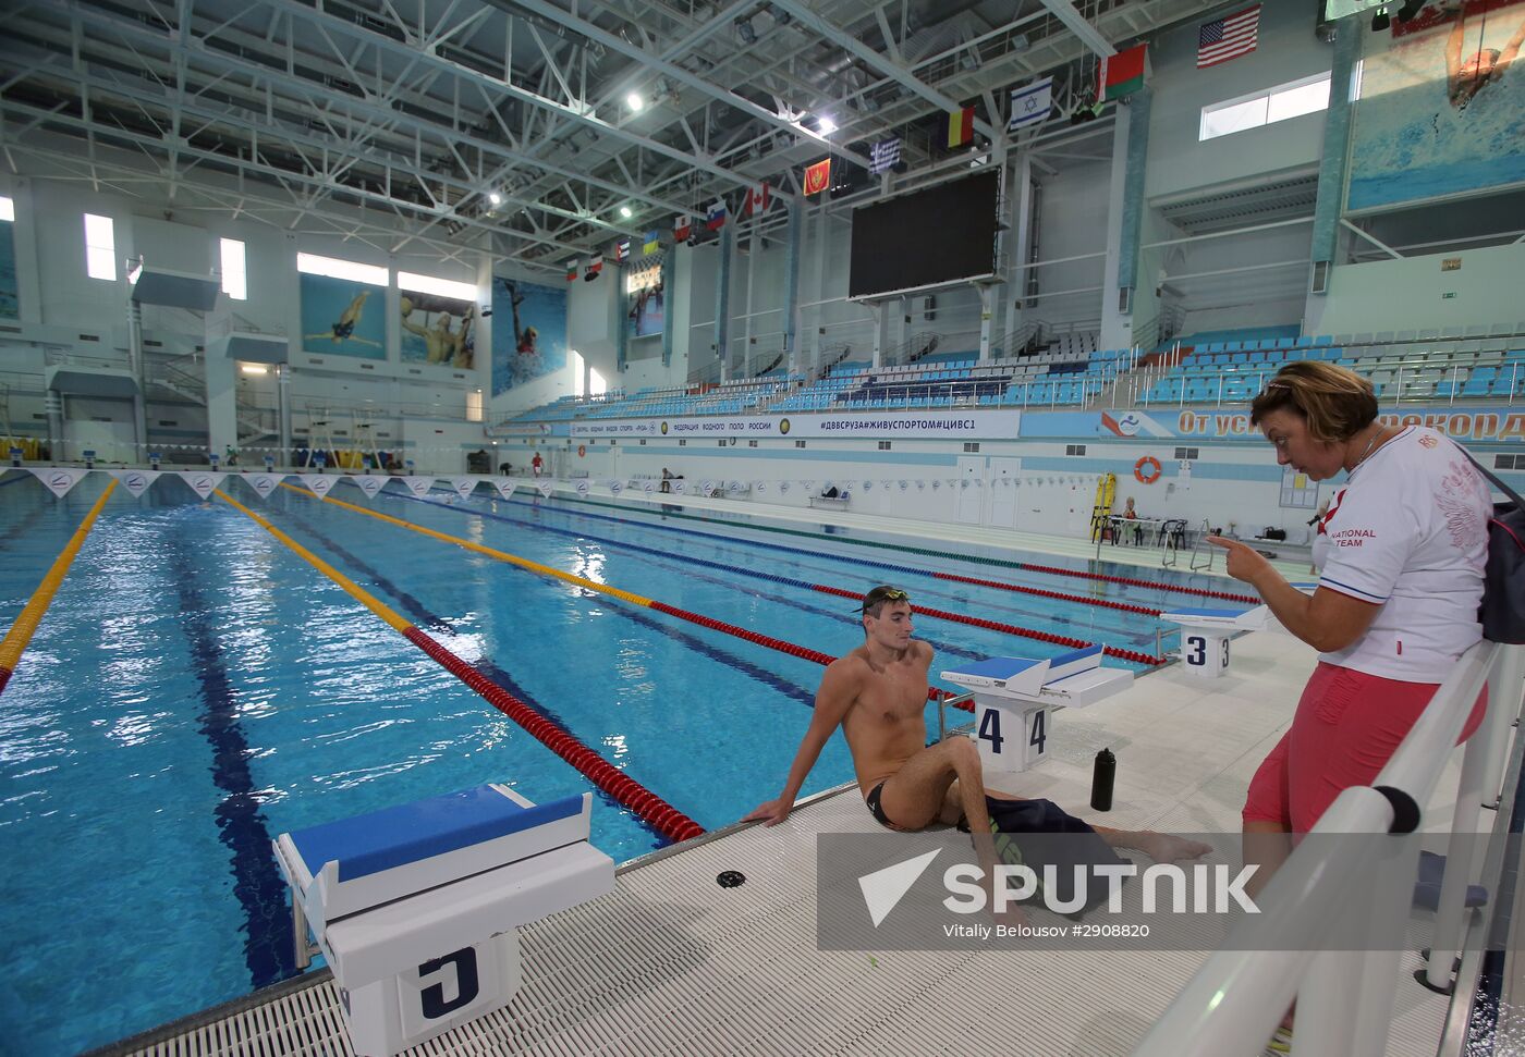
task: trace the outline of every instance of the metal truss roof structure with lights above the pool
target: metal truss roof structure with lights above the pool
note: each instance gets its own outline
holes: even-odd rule
[[[560,270],[761,181],[798,195],[828,154],[828,207],[878,193],[888,136],[913,184],[949,110],[999,140],[1008,88],[1054,72],[1063,105],[1087,56],[1212,6],[34,0],[0,41],[0,146],[12,172],[180,210]]]

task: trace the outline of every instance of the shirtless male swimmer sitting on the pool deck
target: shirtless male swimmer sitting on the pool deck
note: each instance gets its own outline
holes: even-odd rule
[[[965,822],[974,835],[981,867],[996,861],[990,836],[991,807],[1020,797],[985,789],[979,748],[955,736],[927,745],[924,719],[932,647],[910,637],[910,596],[877,586],[863,596],[863,644],[827,666],[816,710],[788,780],[778,800],[759,804],[743,821],[778,825],[816,765],[820,749],[842,725],[863,803],[892,830],[921,830],[933,822]],[[1112,847],[1138,848],[1159,862],[1197,859],[1212,848],[1151,830],[1095,827]]]

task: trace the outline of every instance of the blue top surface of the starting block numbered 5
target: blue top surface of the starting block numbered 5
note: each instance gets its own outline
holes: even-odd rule
[[[339,864],[339,880],[355,880],[410,862],[459,851],[583,812],[583,797],[523,807],[493,786],[383,807],[290,833],[302,862],[317,876]]]

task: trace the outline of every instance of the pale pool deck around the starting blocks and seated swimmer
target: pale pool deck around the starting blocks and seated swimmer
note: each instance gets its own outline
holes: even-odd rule
[[[729,501],[689,506],[737,509]],[[814,524],[833,516],[798,513]],[[846,516],[875,532],[915,525],[926,541],[927,525]],[[938,535],[979,544],[999,535],[1006,545],[1063,553],[1052,542],[1043,548],[965,528]],[[990,784],[1118,829],[1234,833],[1249,778],[1287,730],[1313,664],[1313,652],[1281,631],[1244,635],[1222,679],[1168,666],[1112,699],[1058,713],[1051,758]],[[1103,746],[1118,757],[1118,783],[1113,810],[1098,815],[1087,800],[1092,757]],[[1458,768],[1459,749],[1441,790],[1455,790]],[[1444,825],[1449,803],[1430,807],[1427,816]],[[1127,1054],[1206,956],[1106,947],[820,950],[817,836],[874,832],[883,830],[854,786],[811,800],[779,827],[729,827],[627,864],[610,896],[522,929],[525,982],[506,1007],[410,1052]],[[721,888],[715,879],[724,870],[740,870],[746,883]],[[1423,918],[1414,921],[1415,937],[1427,934]],[[1434,1054],[1447,1014],[1449,999],[1409,978],[1417,967],[1418,955],[1405,955],[1388,1046],[1398,1057]],[[326,1057],[351,1049],[332,978],[316,972],[110,1052]]]

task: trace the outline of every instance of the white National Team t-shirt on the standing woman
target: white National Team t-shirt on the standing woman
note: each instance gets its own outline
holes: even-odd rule
[[[1447,437],[1409,426],[1330,501],[1313,541],[1319,586],[1379,603],[1366,634],[1321,661],[1403,682],[1441,682],[1482,638],[1478,605],[1493,501]]]

